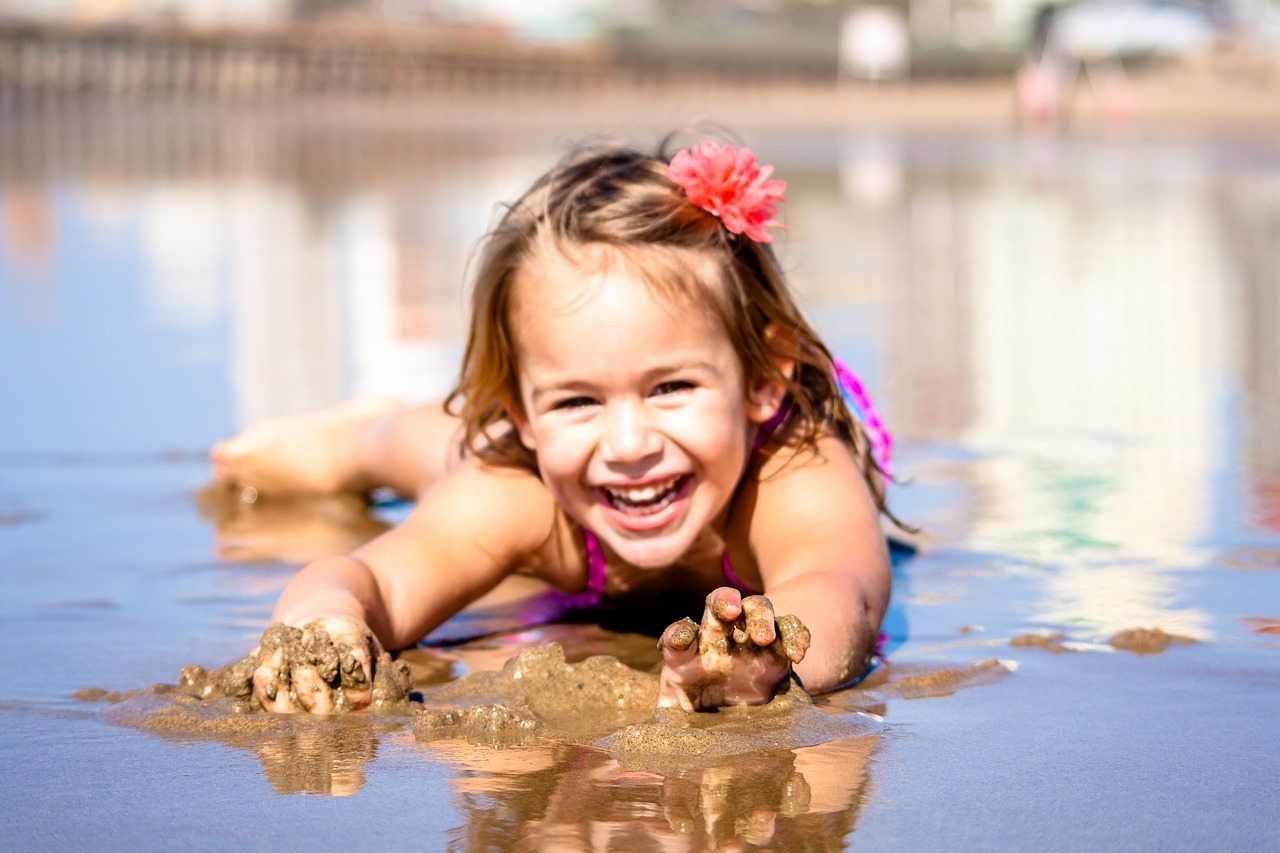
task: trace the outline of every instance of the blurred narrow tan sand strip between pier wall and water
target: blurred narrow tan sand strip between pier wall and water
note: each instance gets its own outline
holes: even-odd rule
[[[529,95],[397,95],[389,97],[307,95],[260,102],[108,99],[93,95],[0,100],[5,123],[41,123],[58,117],[124,115],[128,122],[236,120],[298,124],[323,129],[406,132],[547,133],[649,132],[695,120],[748,131],[901,131],[992,133],[1019,128],[1042,134],[1272,137],[1280,131],[1280,91],[1213,76],[1155,70],[1129,76],[1133,109],[1121,120],[1105,115],[1097,92],[1082,85],[1061,120],[1020,119],[1014,81],[925,81],[842,85],[689,85],[655,90],[609,87],[593,92]],[[17,129],[17,128],[14,128]],[[0,140],[6,136],[0,131]]]

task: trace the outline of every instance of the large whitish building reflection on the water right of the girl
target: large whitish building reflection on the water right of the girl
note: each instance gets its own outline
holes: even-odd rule
[[[1236,476],[1253,521],[1275,523],[1258,437],[1280,400],[1280,259],[1257,232],[1277,205],[1235,173],[1274,187],[1276,164],[1080,143],[1006,147],[996,167],[989,149],[905,149],[916,167],[891,209],[891,423],[980,455],[963,466],[961,535],[1046,566],[1029,621],[1210,637],[1174,573],[1238,524]]]

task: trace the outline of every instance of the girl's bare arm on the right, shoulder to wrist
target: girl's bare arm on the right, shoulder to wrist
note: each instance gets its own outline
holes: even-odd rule
[[[795,666],[805,688],[833,690],[867,670],[888,608],[888,547],[870,489],[850,448],[828,437],[769,460],[755,497],[750,542],[764,594],[812,634]]]

